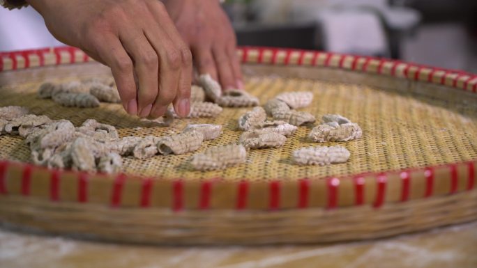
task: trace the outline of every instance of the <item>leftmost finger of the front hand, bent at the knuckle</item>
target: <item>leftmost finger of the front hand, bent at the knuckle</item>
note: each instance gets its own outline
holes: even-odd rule
[[[93,45],[95,54],[112,70],[124,109],[132,116],[137,115],[137,90],[131,58],[119,38],[113,34],[104,33],[93,40],[96,40]]]

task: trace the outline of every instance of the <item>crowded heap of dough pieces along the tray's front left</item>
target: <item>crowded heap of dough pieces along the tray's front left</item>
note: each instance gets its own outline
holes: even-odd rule
[[[191,124],[170,136],[119,138],[115,127],[93,119],[75,127],[68,120],[36,116],[23,107],[0,108],[0,134],[22,136],[29,145],[33,163],[48,168],[117,173],[121,171],[122,157],[181,155],[199,149],[203,141],[217,139],[221,133],[220,125]],[[225,168],[234,164],[237,157],[244,161],[245,149],[241,149],[239,145],[211,148],[196,155],[192,164],[201,169]]]

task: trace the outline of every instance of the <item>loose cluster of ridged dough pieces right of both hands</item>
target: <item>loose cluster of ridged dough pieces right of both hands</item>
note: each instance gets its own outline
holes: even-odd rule
[[[299,126],[315,123],[315,117],[304,111],[313,100],[311,92],[290,92],[268,100],[264,107],[255,107],[239,118],[243,130],[240,143],[247,149],[278,148],[285,144]],[[273,120],[268,120],[271,117]],[[340,115],[326,114],[321,125],[313,128],[308,136],[311,141],[351,141],[361,138],[363,132],[356,123]],[[340,145],[301,148],[292,153],[292,159],[300,165],[344,163],[349,151]]]

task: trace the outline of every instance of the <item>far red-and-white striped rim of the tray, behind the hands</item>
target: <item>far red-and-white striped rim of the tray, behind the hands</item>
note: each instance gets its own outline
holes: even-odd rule
[[[387,58],[269,47],[240,47],[237,49],[237,54],[239,54],[243,63],[341,68],[357,72],[389,75],[411,81],[441,84],[477,93],[476,74],[404,63]],[[93,59],[75,47],[0,52],[0,72],[89,61],[93,61]]]

